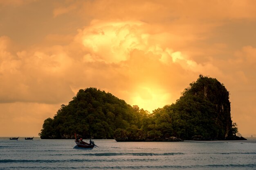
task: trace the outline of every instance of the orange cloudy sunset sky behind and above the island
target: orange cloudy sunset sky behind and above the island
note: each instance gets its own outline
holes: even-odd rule
[[[38,136],[79,89],[152,113],[200,74],[256,134],[256,1],[0,0],[0,136]]]

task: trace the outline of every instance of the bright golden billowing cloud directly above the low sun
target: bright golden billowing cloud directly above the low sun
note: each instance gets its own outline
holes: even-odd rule
[[[76,79],[79,83],[74,83],[76,87],[72,89],[76,90],[73,91],[77,91],[81,85],[88,86],[93,82],[97,87],[108,89],[114,95],[124,96],[128,103],[146,107],[151,111],[154,107],[162,107],[175,101],[183,87],[188,84],[179,87],[179,81],[171,81],[166,77],[175,75],[185,80],[191,72],[194,72],[195,77],[200,74],[200,70],[195,70],[195,61],[187,59],[181,52],[175,52],[171,48],[163,49],[165,42],[161,33],[151,34],[148,24],[144,22],[94,21],[90,26],[80,30],[74,41],[83,45],[84,54],[80,54],[80,61],[86,65],[86,69],[83,70],[84,81]],[[77,64],[76,68],[80,69],[82,63]],[[188,73],[182,75],[184,72]],[[77,84],[80,86],[77,87]],[[166,87],[169,89],[164,90]],[[126,96],[122,89],[126,89],[130,96]],[[180,91],[175,91],[177,89]]]

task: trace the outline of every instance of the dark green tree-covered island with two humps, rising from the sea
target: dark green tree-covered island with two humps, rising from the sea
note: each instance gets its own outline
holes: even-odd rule
[[[44,121],[39,135],[42,139],[71,139],[76,133],[117,141],[242,139],[237,132],[229,92],[216,78],[200,75],[175,103],[153,113],[97,88],[80,89],[54,118]]]

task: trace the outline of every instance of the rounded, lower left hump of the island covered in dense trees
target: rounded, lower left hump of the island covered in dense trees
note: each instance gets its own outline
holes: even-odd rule
[[[96,88],[80,89],[68,105],[61,105],[53,119],[44,121],[39,135],[42,139],[69,139],[74,138],[74,133],[97,139],[113,138],[118,128],[141,128],[143,116],[110,93]]]

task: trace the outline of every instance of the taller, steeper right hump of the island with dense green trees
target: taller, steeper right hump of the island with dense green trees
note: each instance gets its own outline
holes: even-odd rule
[[[225,139],[232,135],[231,127],[229,92],[216,78],[200,75],[175,104],[153,111],[148,133],[152,137]]]

